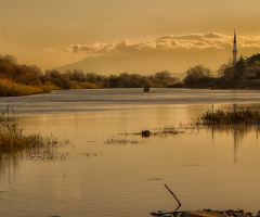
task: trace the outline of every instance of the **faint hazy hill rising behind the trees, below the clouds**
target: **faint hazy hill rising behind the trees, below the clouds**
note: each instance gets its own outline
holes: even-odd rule
[[[226,56],[220,51],[212,52],[212,55],[205,55],[204,51],[183,52],[146,52],[128,54],[105,54],[100,56],[86,58],[73,64],[56,67],[60,72],[67,69],[82,69],[86,73],[94,72],[101,75],[138,73],[153,75],[157,72],[168,71],[183,77],[187,68],[203,64],[213,71],[217,71],[220,63],[225,62]],[[216,61],[218,60],[218,61]],[[223,62],[222,62],[223,61]],[[208,63],[208,64],[205,64]]]

